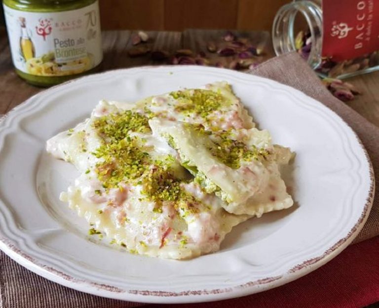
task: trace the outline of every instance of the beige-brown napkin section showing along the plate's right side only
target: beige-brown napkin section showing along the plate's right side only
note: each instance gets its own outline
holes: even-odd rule
[[[298,53],[287,53],[269,59],[251,70],[250,73],[297,88],[332,109],[357,133],[370,156],[374,174],[379,176],[379,128],[334,97],[329,90],[323,86],[320,79],[313,73]],[[379,183],[379,180],[377,183]],[[377,198],[374,198],[370,216],[353,243],[379,235],[378,190],[379,184],[375,189]]]

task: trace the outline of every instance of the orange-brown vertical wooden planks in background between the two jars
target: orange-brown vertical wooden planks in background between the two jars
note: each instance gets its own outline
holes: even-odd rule
[[[104,30],[271,30],[291,0],[100,0]]]

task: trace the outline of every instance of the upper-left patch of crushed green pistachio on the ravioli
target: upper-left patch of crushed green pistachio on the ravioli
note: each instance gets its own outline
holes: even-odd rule
[[[150,131],[148,118],[131,110],[100,117],[92,126],[107,141],[122,140],[129,132]]]

